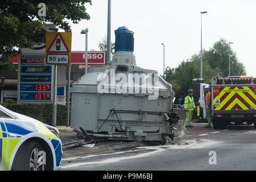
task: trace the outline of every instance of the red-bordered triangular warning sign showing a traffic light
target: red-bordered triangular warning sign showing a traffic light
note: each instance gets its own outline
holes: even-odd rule
[[[68,46],[64,42],[60,33],[57,33],[51,45],[47,49],[47,53],[69,53]]]

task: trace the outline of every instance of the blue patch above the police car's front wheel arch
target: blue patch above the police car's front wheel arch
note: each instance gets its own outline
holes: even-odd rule
[[[18,135],[27,135],[32,132],[37,132],[34,123],[16,121],[15,119],[5,119],[5,125],[9,133]]]

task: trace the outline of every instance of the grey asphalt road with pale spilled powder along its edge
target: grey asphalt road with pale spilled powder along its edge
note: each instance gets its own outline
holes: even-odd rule
[[[175,144],[137,147],[115,154],[65,159],[62,170],[256,170],[256,130],[253,126],[205,129],[194,123]],[[69,161],[69,162],[68,162]]]

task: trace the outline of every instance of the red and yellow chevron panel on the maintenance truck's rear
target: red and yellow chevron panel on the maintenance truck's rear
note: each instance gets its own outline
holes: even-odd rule
[[[213,110],[256,111],[256,86],[214,87]]]

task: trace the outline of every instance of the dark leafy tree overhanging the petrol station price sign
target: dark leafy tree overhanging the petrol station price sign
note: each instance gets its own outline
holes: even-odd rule
[[[20,51],[17,48],[33,48],[45,42],[45,23],[56,24],[64,31],[71,31],[67,20],[78,23],[82,19],[90,19],[86,13],[85,3],[91,0],[46,0],[46,16],[39,16],[38,7],[42,1],[16,0],[0,3],[0,73],[12,68],[9,57]]]

